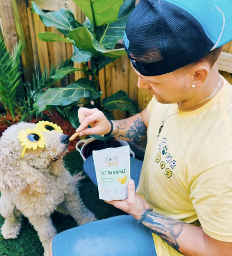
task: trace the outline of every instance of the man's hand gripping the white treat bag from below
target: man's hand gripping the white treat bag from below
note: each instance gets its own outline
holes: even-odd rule
[[[133,179],[130,179],[127,186],[128,197],[125,200],[105,201],[120,210],[132,215],[139,220],[145,209],[149,208],[148,203],[136,193]]]

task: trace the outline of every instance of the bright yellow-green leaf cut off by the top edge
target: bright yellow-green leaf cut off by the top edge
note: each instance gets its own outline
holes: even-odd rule
[[[123,0],[74,0],[95,26],[117,20]]]

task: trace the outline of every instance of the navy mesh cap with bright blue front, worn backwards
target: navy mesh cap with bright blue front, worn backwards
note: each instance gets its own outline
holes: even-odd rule
[[[124,48],[142,75],[161,75],[232,40],[231,0],[141,0],[125,27]]]

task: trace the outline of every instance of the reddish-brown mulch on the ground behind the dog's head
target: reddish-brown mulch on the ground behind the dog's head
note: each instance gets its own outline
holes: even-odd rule
[[[57,124],[61,127],[64,134],[71,137],[71,135],[74,134],[75,128],[70,124],[69,121],[65,120],[58,112],[52,111],[51,114],[49,112],[45,112],[46,120],[53,122],[54,124]],[[34,118],[31,122],[36,123],[40,120],[43,120],[42,118]],[[17,124],[20,121],[19,118],[15,118],[12,120],[10,116],[6,116],[4,118],[0,117],[0,138],[2,136],[2,132],[7,129],[7,127]],[[79,138],[76,138],[74,141],[70,141],[68,150],[69,152],[73,152],[75,150],[76,143],[78,142]]]

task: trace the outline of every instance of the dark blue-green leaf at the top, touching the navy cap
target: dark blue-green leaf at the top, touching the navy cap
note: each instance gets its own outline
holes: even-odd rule
[[[125,0],[120,7],[117,21],[96,28],[96,40],[104,48],[113,49],[118,40],[123,38],[125,25],[130,13],[134,9],[135,2],[135,0]]]

